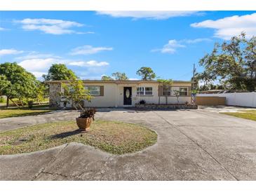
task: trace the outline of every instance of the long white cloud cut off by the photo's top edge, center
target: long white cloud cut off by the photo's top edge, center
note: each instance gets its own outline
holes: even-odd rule
[[[198,11],[97,11],[98,15],[110,15],[114,18],[147,18],[154,20],[188,16],[195,13],[198,13]]]

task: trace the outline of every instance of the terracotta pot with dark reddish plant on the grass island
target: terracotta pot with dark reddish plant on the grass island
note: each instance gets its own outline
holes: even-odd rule
[[[76,118],[76,125],[79,127],[81,132],[88,132],[90,129],[90,123],[94,121],[95,113],[95,108],[88,108],[80,111],[80,116]]]

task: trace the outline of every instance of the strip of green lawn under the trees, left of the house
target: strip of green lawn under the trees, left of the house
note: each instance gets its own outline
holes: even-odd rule
[[[43,109],[45,108],[45,109]],[[16,117],[16,116],[35,116],[38,114],[44,114],[53,111],[53,109],[48,109],[48,104],[35,105],[32,109],[28,107],[12,107],[5,109],[4,107],[0,109],[0,118]]]

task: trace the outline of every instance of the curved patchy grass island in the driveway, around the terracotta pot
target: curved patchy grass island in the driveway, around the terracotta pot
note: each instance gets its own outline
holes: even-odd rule
[[[156,132],[119,121],[94,121],[81,133],[75,121],[33,125],[0,132],[0,154],[26,153],[79,142],[114,154],[133,153],[156,143]]]

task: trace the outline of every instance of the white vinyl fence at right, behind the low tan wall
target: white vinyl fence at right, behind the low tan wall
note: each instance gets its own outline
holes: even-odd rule
[[[241,107],[256,107],[256,92],[231,92],[197,94],[200,97],[226,97],[226,104]]]

